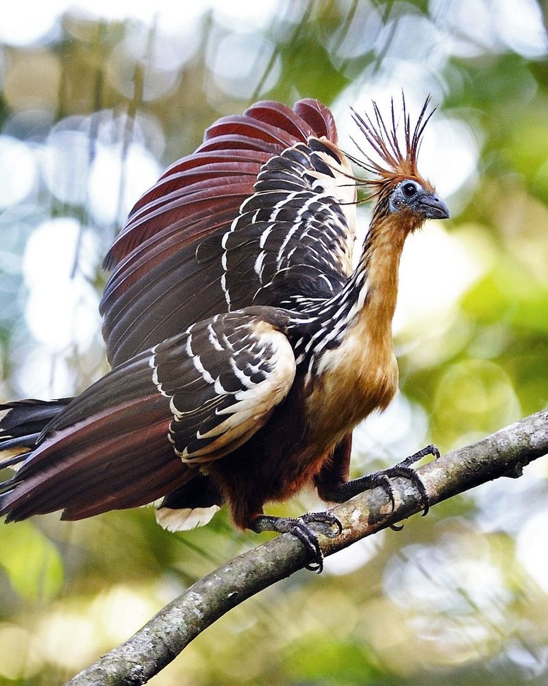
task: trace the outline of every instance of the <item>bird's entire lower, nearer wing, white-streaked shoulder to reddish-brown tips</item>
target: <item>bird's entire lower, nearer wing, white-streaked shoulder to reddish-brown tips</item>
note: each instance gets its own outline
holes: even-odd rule
[[[147,504],[194,477],[195,462],[247,440],[295,375],[270,312],[194,324],[90,386],[3,485],[0,514],[10,521],[62,509],[63,519],[81,519]]]

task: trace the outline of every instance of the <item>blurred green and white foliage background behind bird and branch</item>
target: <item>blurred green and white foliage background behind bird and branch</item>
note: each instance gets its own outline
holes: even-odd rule
[[[105,370],[101,255],[138,194],[216,117],[256,99],[317,97],[350,146],[349,104],[403,88],[439,105],[426,136],[435,149],[423,153],[452,217],[427,226],[402,264],[402,394],[358,432],[356,472],[429,440],[464,445],[545,407],[541,0],[204,1],[177,14],[160,4],[147,19],[116,14],[116,2],[102,18],[77,3],[26,39],[16,31],[24,12],[10,12],[11,34],[0,36],[2,399],[71,394]],[[517,482],[352,547],[319,578],[298,573],[223,617],[153,683],[544,685],[547,491],[539,461]],[[287,511],[314,506],[303,495]],[[224,512],[186,534],[164,532],[146,509],[1,528],[0,683],[62,683],[259,540]]]

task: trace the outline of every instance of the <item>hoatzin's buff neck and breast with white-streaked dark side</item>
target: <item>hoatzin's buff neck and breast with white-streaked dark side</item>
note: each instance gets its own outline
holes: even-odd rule
[[[316,342],[302,364],[309,425],[321,447],[384,409],[397,390],[392,318],[406,234],[389,218],[373,221],[358,267],[317,314]]]

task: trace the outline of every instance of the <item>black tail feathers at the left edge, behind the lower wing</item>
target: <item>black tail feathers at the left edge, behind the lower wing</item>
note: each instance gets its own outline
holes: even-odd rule
[[[7,460],[0,460],[0,468],[22,462],[36,446],[45,427],[64,410],[72,398],[58,400],[18,400],[0,405],[5,412],[0,419],[0,452],[16,451]]]

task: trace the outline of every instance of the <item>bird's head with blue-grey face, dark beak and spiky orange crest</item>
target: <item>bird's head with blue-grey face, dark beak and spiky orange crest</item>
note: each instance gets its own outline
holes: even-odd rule
[[[436,195],[432,184],[419,174],[416,165],[425,126],[434,113],[431,110],[427,114],[429,102],[430,97],[427,97],[419,118],[411,129],[406,101],[402,96],[403,146],[399,140],[394,102],[388,123],[382,118],[375,102],[373,116],[362,117],[353,110],[354,120],[379,158],[379,161],[375,161],[371,154],[364,152],[354,141],[364,158],[351,159],[375,176],[359,180],[360,185],[371,189],[369,197],[377,200],[373,217],[382,220],[384,217],[397,215],[408,230],[419,228],[426,219],[449,217],[447,205]]]

